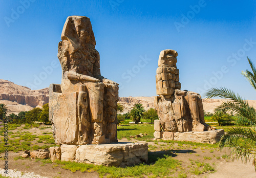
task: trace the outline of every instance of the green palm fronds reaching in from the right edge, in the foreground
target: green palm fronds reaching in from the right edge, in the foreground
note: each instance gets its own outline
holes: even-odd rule
[[[246,70],[242,75],[249,81],[252,87],[256,90],[256,69],[252,61],[247,57],[252,72]],[[234,159],[241,159],[248,161],[253,158],[253,164],[256,165],[256,110],[248,104],[239,94],[235,94],[232,90],[225,87],[211,88],[206,93],[207,98],[221,97],[230,99],[223,102],[218,109],[222,111],[236,112],[240,118],[245,118],[251,121],[250,127],[232,127],[227,130],[227,133],[222,136],[219,147],[223,148],[229,145],[231,148],[231,155]],[[256,168],[256,166],[255,166]],[[256,169],[255,169],[256,171]]]

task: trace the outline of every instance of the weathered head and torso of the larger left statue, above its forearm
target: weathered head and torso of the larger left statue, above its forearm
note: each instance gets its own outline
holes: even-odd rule
[[[58,58],[62,72],[74,71],[87,76],[100,75],[99,53],[90,18],[69,16],[61,33]]]

